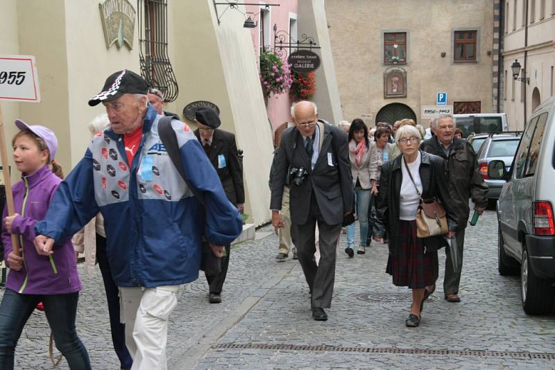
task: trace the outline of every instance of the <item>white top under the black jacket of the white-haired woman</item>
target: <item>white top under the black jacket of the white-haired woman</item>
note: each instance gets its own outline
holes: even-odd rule
[[[422,181],[420,180],[420,173],[418,169],[420,168],[420,152],[418,152],[418,157],[416,161],[412,163],[407,163],[409,169],[411,170],[412,178],[418,187],[418,191],[422,194]],[[403,182],[401,184],[401,194],[400,194],[400,205],[399,205],[399,218],[400,220],[411,221],[416,220],[416,211],[418,211],[418,205],[420,204],[420,198],[418,193],[416,193],[416,188],[414,187],[411,177],[407,172],[407,167],[404,166],[404,158],[401,159],[401,170]]]

